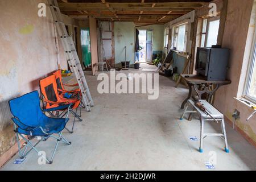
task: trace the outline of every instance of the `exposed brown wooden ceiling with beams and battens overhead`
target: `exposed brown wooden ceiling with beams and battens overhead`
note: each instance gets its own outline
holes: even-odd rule
[[[142,24],[164,24],[199,9],[210,0],[58,0],[63,14],[73,18],[93,16],[99,20],[134,22]]]

